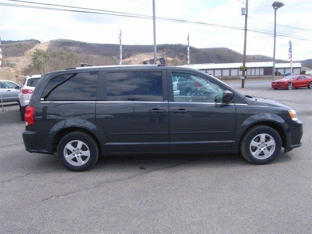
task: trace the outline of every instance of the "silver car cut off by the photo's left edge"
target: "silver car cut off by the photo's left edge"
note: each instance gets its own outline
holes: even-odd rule
[[[0,103],[10,102],[10,101],[19,101],[18,90],[20,85],[10,80],[1,80],[0,81],[0,92],[1,98]]]

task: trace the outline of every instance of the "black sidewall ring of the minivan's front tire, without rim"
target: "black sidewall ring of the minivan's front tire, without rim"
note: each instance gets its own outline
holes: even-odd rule
[[[262,134],[262,133],[269,134],[274,138],[275,150],[274,150],[273,155],[271,155],[270,157],[265,158],[265,159],[258,159],[256,157],[254,157],[252,155],[252,153],[250,152],[250,143],[254,139],[255,136]],[[281,140],[281,137],[279,136],[279,134],[273,128],[263,126],[261,128],[254,129],[254,131],[251,131],[246,136],[245,145],[243,146],[243,150],[244,150],[245,156],[247,156],[247,158],[248,158],[247,160],[249,160],[251,163],[253,163],[253,164],[267,164],[267,163],[272,162],[275,159],[275,157],[279,155],[279,153],[281,151],[281,147],[282,147],[282,140]]]

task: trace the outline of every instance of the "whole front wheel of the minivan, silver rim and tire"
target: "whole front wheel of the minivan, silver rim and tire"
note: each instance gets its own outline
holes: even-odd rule
[[[252,164],[266,164],[275,159],[281,147],[281,137],[273,128],[257,125],[244,134],[240,144],[240,153]]]

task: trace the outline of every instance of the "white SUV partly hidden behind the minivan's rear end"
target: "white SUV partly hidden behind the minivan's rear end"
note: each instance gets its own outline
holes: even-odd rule
[[[20,102],[20,117],[24,120],[25,109],[28,106],[29,100],[34,92],[34,89],[41,78],[41,75],[26,76],[19,89],[19,102]]]

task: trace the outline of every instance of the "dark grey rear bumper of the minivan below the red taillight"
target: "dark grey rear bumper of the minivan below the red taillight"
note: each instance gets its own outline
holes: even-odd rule
[[[47,142],[47,135],[25,130],[22,133],[25,149],[30,153],[53,155],[53,146]]]

